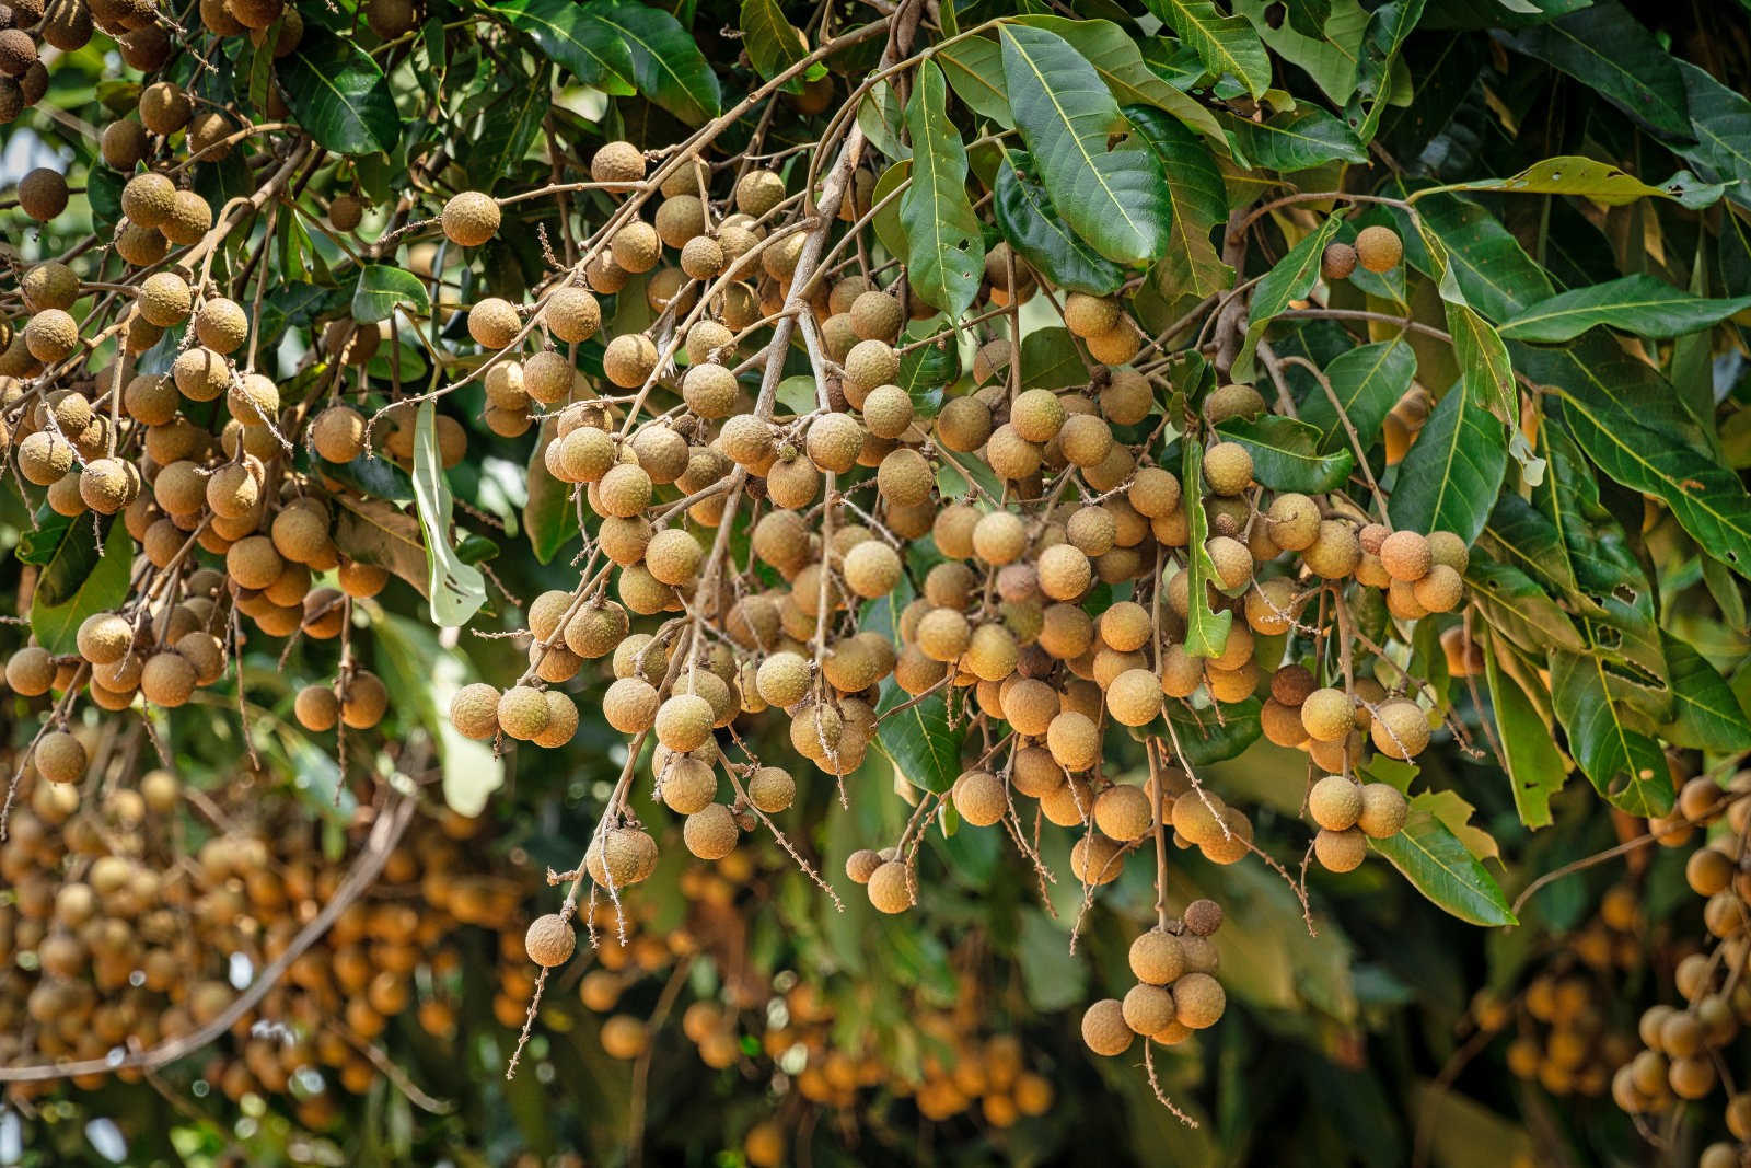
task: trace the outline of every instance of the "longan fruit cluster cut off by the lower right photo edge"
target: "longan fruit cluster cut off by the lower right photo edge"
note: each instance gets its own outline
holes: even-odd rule
[[[1728,1140],[1704,1147],[1702,1168],[1742,1164],[1751,1154],[1751,1091],[1733,1084],[1723,1068],[1737,1065],[1735,1051],[1751,1023],[1751,986],[1744,979],[1751,963],[1751,770],[1739,770],[1725,783],[1711,776],[1688,779],[1669,816],[1649,820],[1663,848],[1684,846],[1698,830],[1700,848],[1684,863],[1684,881],[1704,898],[1702,925],[1707,947],[1677,961],[1677,1002],[1649,1007],[1637,1023],[1641,1051],[1625,1058],[1611,1079],[1611,1098],[1634,1115],[1665,1115],[1686,1101],[1728,1089],[1723,1119]],[[1695,1108],[1690,1110],[1695,1115]]]

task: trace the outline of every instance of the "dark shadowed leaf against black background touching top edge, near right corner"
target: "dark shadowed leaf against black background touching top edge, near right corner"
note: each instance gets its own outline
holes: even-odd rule
[[[1616,0],[1523,28],[1508,44],[1569,74],[1649,130],[1690,138],[1677,61]]]

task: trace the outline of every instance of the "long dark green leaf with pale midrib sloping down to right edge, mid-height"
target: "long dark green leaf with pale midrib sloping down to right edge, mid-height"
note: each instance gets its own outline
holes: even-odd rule
[[[1609,341],[1604,347],[1616,348]],[[1697,543],[1751,576],[1751,494],[1737,475],[1691,445],[1693,429],[1670,387],[1663,401],[1634,392],[1646,378],[1627,385],[1613,378],[1606,362],[1588,359],[1599,347],[1520,352],[1534,382],[1558,389],[1564,422],[1600,471],[1665,503]]]

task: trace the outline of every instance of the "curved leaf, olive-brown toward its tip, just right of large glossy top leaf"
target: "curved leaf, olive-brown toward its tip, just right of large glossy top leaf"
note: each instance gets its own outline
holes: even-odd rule
[[[1168,298],[1199,299],[1229,287],[1234,270],[1210,242],[1210,231],[1227,221],[1227,189],[1215,158],[1185,126],[1147,105],[1126,105],[1121,112],[1161,159],[1173,203],[1173,228],[1168,252],[1156,264],[1156,287]]]

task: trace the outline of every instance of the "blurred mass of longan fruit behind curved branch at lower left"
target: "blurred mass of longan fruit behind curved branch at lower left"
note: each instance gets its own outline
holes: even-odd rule
[[[96,739],[89,728],[79,737]],[[103,1059],[212,1023],[236,998],[236,963],[254,975],[282,954],[348,872],[350,856],[326,855],[291,800],[249,790],[271,781],[263,772],[208,797],[149,770],[95,804],[72,785],[28,770],[25,781],[0,844],[12,890],[0,905],[4,1065]],[[201,820],[186,800],[205,807]],[[210,816],[224,816],[222,828]],[[229,1026],[201,1077],[231,1100],[284,1096],[301,1124],[326,1128],[341,1093],[362,1094],[376,1080],[364,1047],[394,1017],[413,1014],[432,1037],[454,1037],[455,933],[499,928],[531,883],[464,846],[478,827],[454,813],[418,816],[378,883]],[[513,951],[520,958],[520,944]],[[518,961],[513,972],[527,981],[525,968]],[[431,989],[422,995],[417,982]],[[508,1024],[520,1021],[522,1000]],[[95,1089],[109,1077],[74,1084]],[[16,1098],[53,1089],[53,1080],[9,1086]]]

